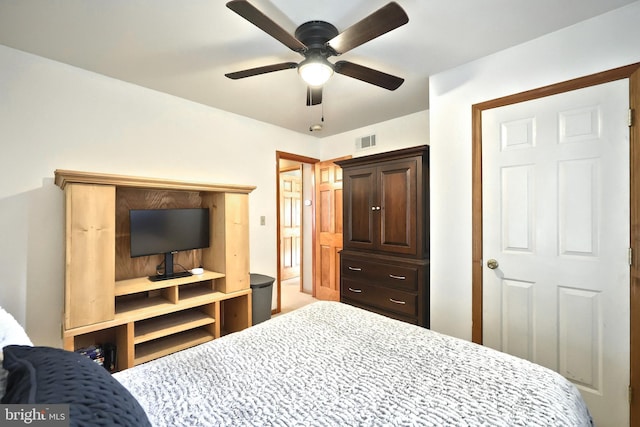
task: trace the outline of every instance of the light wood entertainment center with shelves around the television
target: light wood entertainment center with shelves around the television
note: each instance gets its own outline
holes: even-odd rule
[[[115,344],[122,370],[251,326],[255,187],[68,170],[55,182],[65,193],[65,349]],[[208,211],[208,247],[132,257],[139,210]],[[151,281],[167,259],[188,275]]]

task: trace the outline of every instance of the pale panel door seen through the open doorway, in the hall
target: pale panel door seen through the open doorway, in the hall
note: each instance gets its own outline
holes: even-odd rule
[[[280,279],[300,276],[302,173],[280,172]]]

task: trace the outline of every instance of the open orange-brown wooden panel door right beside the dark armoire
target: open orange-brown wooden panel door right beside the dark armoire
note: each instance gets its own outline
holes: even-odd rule
[[[340,300],[342,168],[334,161],[342,159],[344,158],[315,164],[316,247],[313,296],[321,300]]]

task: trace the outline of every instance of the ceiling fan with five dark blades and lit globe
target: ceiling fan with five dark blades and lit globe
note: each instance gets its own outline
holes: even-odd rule
[[[388,90],[396,90],[404,79],[349,61],[331,63],[328,58],[342,55],[407,22],[409,17],[396,3],[391,2],[343,32],[325,21],[309,21],[289,34],[271,18],[246,0],[232,0],[227,7],[269,34],[289,49],[304,56],[300,63],[282,62],[225,74],[230,79],[243,79],[274,71],[298,69],[307,83],[307,105],[322,103],[322,85],[333,73],[342,74]]]

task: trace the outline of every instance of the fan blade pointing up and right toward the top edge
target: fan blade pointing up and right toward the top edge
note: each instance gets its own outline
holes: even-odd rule
[[[381,7],[353,24],[327,43],[338,55],[350,51],[409,22],[404,9],[396,2]]]

